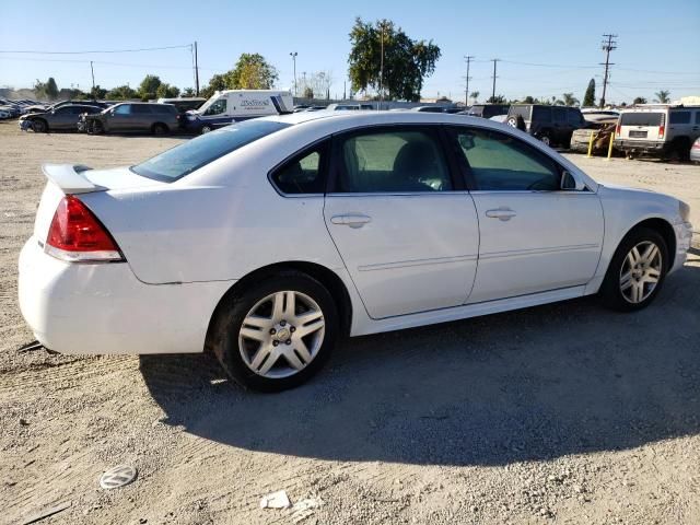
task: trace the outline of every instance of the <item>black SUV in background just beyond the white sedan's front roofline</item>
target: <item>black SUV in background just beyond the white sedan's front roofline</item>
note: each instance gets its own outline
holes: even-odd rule
[[[584,128],[581,109],[567,106],[545,106],[540,104],[513,104],[508,112],[505,124],[527,131],[547,145],[569,148],[571,135]]]

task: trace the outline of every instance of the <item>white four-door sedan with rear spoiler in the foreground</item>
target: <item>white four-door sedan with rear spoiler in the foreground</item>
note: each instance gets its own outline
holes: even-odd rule
[[[684,202],[454,115],[298,113],[44,172],[19,287],[38,341],[212,351],[261,390],[307,380],[343,335],[595,293],[642,308],[691,237]]]

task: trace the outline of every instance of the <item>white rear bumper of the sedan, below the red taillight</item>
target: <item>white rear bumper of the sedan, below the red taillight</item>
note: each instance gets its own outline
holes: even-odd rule
[[[20,308],[36,339],[61,353],[196,353],[234,281],[144,284],[128,264],[68,264],[36,238],[20,255]]]

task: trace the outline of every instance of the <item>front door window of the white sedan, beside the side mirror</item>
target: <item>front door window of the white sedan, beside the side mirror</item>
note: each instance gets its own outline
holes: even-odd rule
[[[559,166],[520,139],[479,128],[456,130],[459,151],[482,191],[556,191]]]

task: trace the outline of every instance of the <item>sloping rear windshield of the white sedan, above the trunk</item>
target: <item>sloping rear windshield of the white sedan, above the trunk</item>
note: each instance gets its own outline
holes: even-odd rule
[[[289,126],[291,125],[270,120],[246,120],[233,124],[176,145],[141,164],[131,166],[131,171],[143,177],[172,183],[245,144]]]

